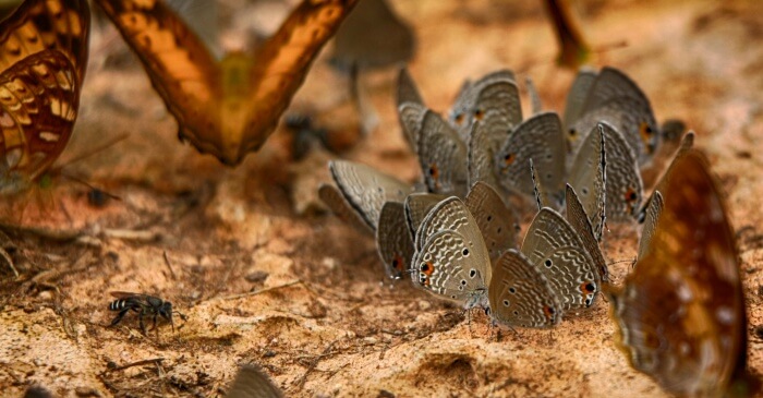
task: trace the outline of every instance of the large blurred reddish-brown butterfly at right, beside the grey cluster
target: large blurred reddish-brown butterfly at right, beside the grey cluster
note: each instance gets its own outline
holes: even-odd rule
[[[608,292],[618,345],[637,370],[678,396],[747,395],[747,317],[724,198],[690,149],[647,212],[639,261]]]

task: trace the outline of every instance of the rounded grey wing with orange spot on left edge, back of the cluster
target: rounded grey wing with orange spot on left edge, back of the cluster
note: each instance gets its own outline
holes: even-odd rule
[[[497,153],[498,180],[509,191],[533,194],[530,159],[541,177],[541,184],[552,196],[562,189],[565,178],[565,137],[555,112],[543,112],[518,125]]]

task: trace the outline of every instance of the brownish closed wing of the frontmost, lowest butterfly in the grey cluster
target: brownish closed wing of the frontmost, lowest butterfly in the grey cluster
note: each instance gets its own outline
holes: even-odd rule
[[[493,273],[487,294],[494,318],[509,326],[534,328],[561,322],[562,307],[548,278],[522,253],[507,251]]]

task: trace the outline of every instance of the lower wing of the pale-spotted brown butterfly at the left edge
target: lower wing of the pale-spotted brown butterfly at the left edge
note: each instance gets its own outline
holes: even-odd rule
[[[0,191],[24,189],[56,161],[78,105],[76,69],[57,50],[36,52],[0,74]]]

